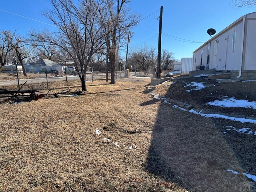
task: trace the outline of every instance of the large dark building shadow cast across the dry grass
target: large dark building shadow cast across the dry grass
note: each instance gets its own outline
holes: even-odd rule
[[[248,180],[226,171],[243,172],[224,134],[214,126],[218,120],[160,102],[146,169],[187,190],[240,191]]]

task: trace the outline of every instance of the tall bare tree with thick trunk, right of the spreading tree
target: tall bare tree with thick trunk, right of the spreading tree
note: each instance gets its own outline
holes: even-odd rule
[[[107,10],[101,12],[101,21],[105,29],[106,57],[111,68],[110,84],[115,83],[116,54],[127,39],[128,30],[139,22],[138,16],[132,14],[127,4],[129,0],[106,0]],[[108,67],[107,67],[108,70]]]

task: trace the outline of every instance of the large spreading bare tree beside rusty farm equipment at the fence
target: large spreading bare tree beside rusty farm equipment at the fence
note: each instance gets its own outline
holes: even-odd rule
[[[58,28],[58,32],[31,31],[31,40],[56,45],[66,52],[74,61],[82,90],[86,91],[86,68],[92,55],[101,50],[104,44],[104,32],[97,15],[106,7],[101,0],[80,0],[78,5],[72,0],[51,2],[52,9],[45,16]]]

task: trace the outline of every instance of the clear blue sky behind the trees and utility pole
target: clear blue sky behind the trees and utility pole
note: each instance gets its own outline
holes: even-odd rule
[[[50,24],[42,15],[42,11],[50,6],[47,3],[50,3],[50,0],[2,0],[0,30],[16,29],[21,35],[26,35],[31,28],[54,30],[54,27],[41,23]],[[156,13],[134,27],[135,34],[132,36],[129,48],[141,46],[144,43],[157,48],[159,21],[155,17],[160,15],[160,6],[163,6],[162,49],[174,52],[176,59],[192,57],[193,51],[202,44],[178,41],[182,39],[174,40],[172,36],[206,42],[210,38],[206,33],[208,28],[214,28],[218,33],[241,16],[256,11],[256,7],[237,9],[230,3],[230,0],[131,0],[128,6],[133,12],[140,14],[141,18],[157,10]],[[165,34],[171,35],[169,36],[171,38]],[[122,52],[122,55],[125,55],[125,52]]]

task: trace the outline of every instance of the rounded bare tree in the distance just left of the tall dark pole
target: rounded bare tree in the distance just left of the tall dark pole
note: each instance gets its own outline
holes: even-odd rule
[[[141,47],[137,47],[129,54],[129,61],[132,66],[136,66],[137,69],[144,71],[144,74],[148,72],[150,68],[154,68],[154,51],[155,48],[149,47],[146,44]]]

